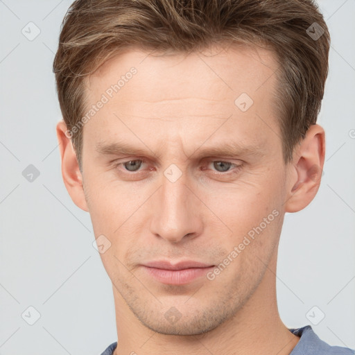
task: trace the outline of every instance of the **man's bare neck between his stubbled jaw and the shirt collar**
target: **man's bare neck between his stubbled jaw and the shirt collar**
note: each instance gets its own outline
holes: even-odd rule
[[[276,259],[241,309],[219,327],[204,334],[178,336],[148,329],[133,315],[114,288],[118,345],[114,355],[289,355],[299,337],[279,317],[276,300]]]

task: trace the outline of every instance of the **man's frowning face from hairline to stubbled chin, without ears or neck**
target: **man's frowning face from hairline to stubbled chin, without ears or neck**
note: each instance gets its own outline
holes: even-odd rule
[[[96,238],[111,243],[101,258],[115,300],[154,331],[216,328],[276,259],[287,169],[272,99],[277,64],[258,52],[132,49],[89,79],[87,110],[103,94],[107,102],[83,128],[87,207]],[[137,73],[125,76],[131,67]],[[157,279],[143,266],[162,260],[214,268]]]

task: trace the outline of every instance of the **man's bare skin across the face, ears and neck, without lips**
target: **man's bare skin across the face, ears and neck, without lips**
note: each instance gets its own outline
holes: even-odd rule
[[[131,67],[137,74],[84,125],[82,171],[64,122],[57,126],[64,184],[89,211],[95,237],[111,243],[100,255],[114,292],[114,354],[290,354],[300,338],[277,310],[277,247],[285,212],[304,209],[318,191],[324,130],[312,125],[284,164],[272,101],[277,62],[247,46],[129,49],[87,80],[87,107]],[[254,101],[245,112],[234,103],[241,93]],[[143,152],[96,149],[119,141]],[[256,151],[206,151],[227,143]],[[118,165],[132,160],[133,171]],[[182,173],[175,182],[164,175],[171,164]],[[278,216],[213,280],[167,285],[141,267],[158,259],[218,266],[273,210]],[[175,322],[164,316],[171,307]]]

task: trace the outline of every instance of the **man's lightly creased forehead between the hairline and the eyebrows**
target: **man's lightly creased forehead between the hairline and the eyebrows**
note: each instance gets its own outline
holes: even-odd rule
[[[128,75],[132,68],[136,73]],[[108,100],[84,130],[96,141],[119,138],[119,132],[128,133],[129,127],[135,128],[131,135],[136,138],[201,141],[232,116],[219,133],[261,142],[265,139],[256,135],[257,130],[262,126],[266,132],[269,126],[265,134],[275,139],[276,70],[271,51],[250,46],[213,46],[168,55],[127,49],[87,79],[87,110],[103,95]],[[248,110],[241,110],[245,105]]]

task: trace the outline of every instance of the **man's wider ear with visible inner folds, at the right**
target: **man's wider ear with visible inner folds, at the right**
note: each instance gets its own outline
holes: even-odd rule
[[[300,146],[295,148],[288,173],[285,211],[297,212],[315,197],[322,177],[325,156],[325,133],[320,125],[311,125]]]

